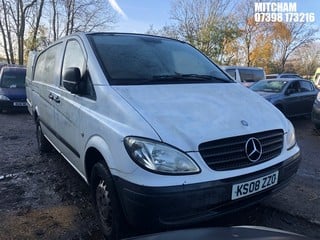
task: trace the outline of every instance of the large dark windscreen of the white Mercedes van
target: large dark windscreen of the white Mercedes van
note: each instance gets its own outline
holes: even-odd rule
[[[189,44],[161,37],[88,35],[111,85],[233,82]]]

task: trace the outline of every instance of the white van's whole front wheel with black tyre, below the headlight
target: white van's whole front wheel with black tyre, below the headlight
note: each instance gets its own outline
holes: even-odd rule
[[[98,162],[91,172],[91,194],[100,229],[106,239],[120,239],[126,233],[120,201],[108,168]]]

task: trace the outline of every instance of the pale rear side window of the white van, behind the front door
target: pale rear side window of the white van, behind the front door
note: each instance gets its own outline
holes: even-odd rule
[[[56,58],[60,53],[61,43],[56,44],[44,51],[38,58],[35,67],[34,80],[55,84],[54,77],[56,75]]]

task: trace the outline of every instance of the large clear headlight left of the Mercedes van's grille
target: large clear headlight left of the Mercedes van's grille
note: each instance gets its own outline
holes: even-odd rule
[[[149,171],[180,175],[200,172],[190,157],[167,144],[139,137],[126,137],[124,145],[130,157]]]

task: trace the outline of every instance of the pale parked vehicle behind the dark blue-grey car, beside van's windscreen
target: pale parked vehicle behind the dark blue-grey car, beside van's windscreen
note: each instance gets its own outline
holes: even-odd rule
[[[221,66],[234,80],[249,87],[253,83],[265,79],[263,68],[243,66]]]

